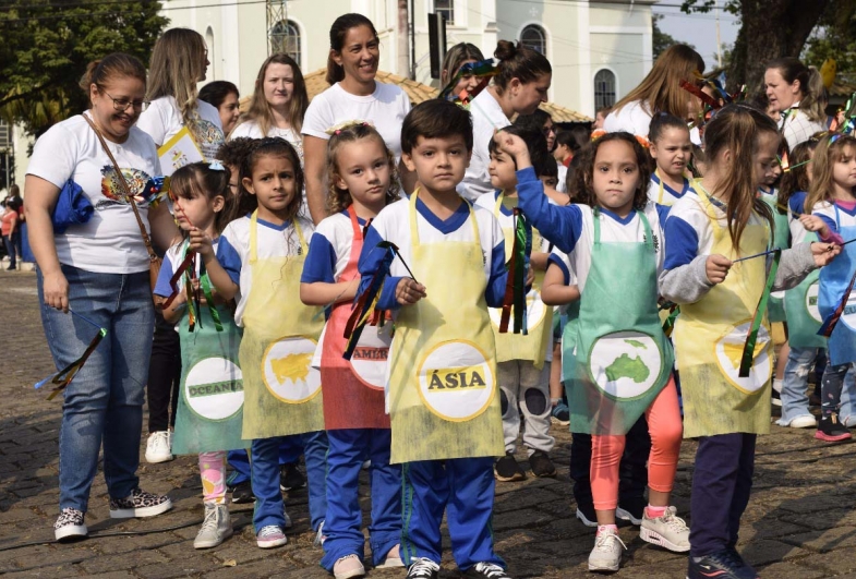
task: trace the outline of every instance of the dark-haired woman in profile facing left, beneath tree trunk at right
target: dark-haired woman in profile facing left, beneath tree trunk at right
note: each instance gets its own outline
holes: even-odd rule
[[[827,130],[827,113],[819,102],[822,91],[823,81],[815,67],[806,67],[793,57],[767,63],[764,92],[769,109],[779,113],[779,129],[789,149]]]

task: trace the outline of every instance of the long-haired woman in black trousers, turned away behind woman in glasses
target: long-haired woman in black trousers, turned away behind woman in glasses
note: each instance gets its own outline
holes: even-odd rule
[[[155,43],[148,72],[152,105],[137,126],[160,147],[184,126],[206,160],[216,158],[224,143],[220,113],[198,98],[196,83],[205,80],[208,51],[202,36],[190,28],[171,28]],[[181,382],[179,335],[156,312],[155,337],[148,369],[148,439],[146,462],[172,460],[172,426],[176,424]]]

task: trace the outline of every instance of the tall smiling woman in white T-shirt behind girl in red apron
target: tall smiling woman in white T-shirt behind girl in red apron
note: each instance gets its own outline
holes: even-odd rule
[[[401,124],[410,111],[410,98],[400,87],[375,81],[379,46],[374,24],[362,14],[343,14],[330,26],[330,87],[312,99],[302,129],[306,201],[316,224],[327,216],[327,141],[335,125],[366,121],[381,133],[396,159],[401,157]],[[405,191],[411,192],[415,177],[400,162],[398,171]]]

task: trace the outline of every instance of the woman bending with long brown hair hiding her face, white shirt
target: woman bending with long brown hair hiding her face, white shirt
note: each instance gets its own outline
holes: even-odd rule
[[[704,60],[686,45],[668,47],[658,59],[639,86],[615,104],[603,122],[607,133],[627,131],[648,138],[651,119],[658,112],[670,112],[678,119],[690,120],[699,110],[699,99],[680,87],[680,81],[696,83],[704,72]],[[698,130],[690,132],[701,144]]]

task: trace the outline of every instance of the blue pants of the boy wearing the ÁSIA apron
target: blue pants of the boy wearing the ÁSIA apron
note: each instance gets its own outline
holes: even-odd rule
[[[496,482],[491,457],[407,462],[401,471],[401,553],[405,565],[417,557],[441,562],[443,512],[451,552],[461,571],[477,563],[505,562],[493,550]]]

